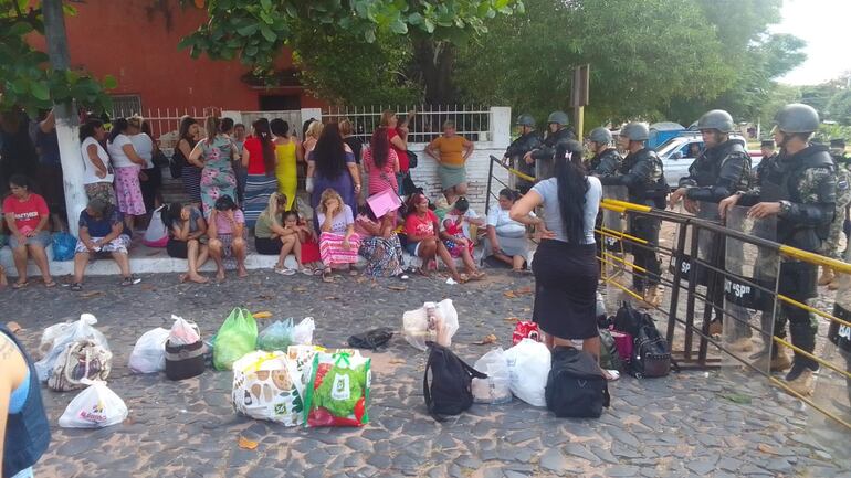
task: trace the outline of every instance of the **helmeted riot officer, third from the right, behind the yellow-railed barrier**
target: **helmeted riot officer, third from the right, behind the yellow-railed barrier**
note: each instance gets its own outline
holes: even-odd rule
[[[621,162],[617,174],[600,178],[603,185],[624,185],[629,201],[652,208],[664,209],[668,196],[668,184],[662,168],[662,161],[655,151],[644,142],[650,137],[650,130],[642,123],[630,123],[620,130],[620,146],[629,151]],[[632,270],[632,286],[642,295],[642,307],[658,307],[662,304],[662,289],[659,285],[662,268],[656,254],[661,220],[630,215],[630,234],[647,241],[647,244],[633,244],[632,256],[635,266],[647,273]]]

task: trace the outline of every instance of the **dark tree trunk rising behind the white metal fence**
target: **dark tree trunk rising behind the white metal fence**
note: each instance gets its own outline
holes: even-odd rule
[[[455,46],[449,41],[435,41],[427,36],[416,38],[412,43],[413,57],[426,87],[426,104],[455,103],[458,92],[452,84]]]

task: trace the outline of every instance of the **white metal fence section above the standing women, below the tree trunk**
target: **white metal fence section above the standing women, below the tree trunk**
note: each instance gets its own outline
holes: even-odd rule
[[[385,110],[396,113],[399,124],[408,120],[408,142],[430,142],[443,131],[443,124],[454,121],[456,132],[471,141],[488,141],[491,134],[491,110],[481,105],[374,105],[330,107],[323,109],[324,123],[351,121],[355,136],[368,140],[381,124]]]

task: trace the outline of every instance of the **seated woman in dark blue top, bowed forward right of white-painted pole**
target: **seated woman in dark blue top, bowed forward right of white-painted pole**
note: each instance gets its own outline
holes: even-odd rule
[[[122,287],[138,284],[130,275],[130,258],[127,246],[130,245],[129,230],[118,208],[102,199],[88,201],[80,213],[80,240],[74,251],[74,282],[71,290],[83,290],[83,275],[93,253],[109,253],[122,272]]]

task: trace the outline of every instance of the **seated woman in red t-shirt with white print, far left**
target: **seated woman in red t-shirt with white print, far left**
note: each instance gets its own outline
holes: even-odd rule
[[[13,174],[9,179],[12,191],[3,201],[3,214],[9,226],[9,247],[12,249],[14,268],[18,270],[15,289],[27,287],[27,259],[35,261],[44,279],[44,287],[54,287],[56,283],[50,275],[50,264],[44,248],[50,244],[50,233],[44,229],[50,220],[50,211],[44,198],[30,192],[30,180],[23,174]]]

